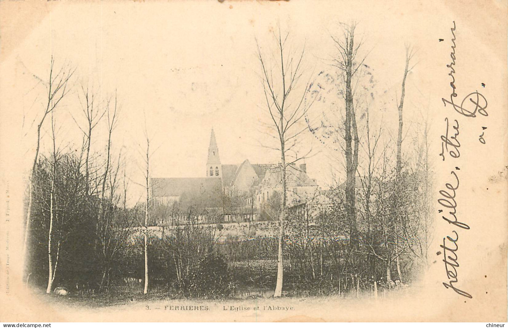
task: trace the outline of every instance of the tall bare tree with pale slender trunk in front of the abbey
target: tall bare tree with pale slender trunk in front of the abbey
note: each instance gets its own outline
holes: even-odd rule
[[[289,33],[282,39],[279,32],[275,36],[277,41],[276,56],[280,58],[277,65],[277,74],[274,78],[272,66],[269,65],[261,53],[258,44],[258,58],[262,68],[262,86],[265,95],[266,106],[271,119],[271,125],[276,131],[273,136],[278,140],[278,147],[274,148],[280,152],[280,171],[282,183],[282,200],[279,212],[279,234],[278,234],[278,252],[277,252],[277,282],[275,286],[274,297],[282,295],[282,279],[283,279],[283,241],[284,241],[284,222],[286,215],[287,202],[287,186],[286,186],[286,170],[288,166],[294,166],[296,161],[304,158],[296,157],[293,161],[288,161],[288,153],[297,144],[297,137],[306,130],[306,126],[302,129],[299,123],[305,117],[308,108],[312,105],[313,99],[307,101],[307,89],[309,82],[302,89],[301,95],[298,95],[298,81],[302,77],[302,59],[305,48],[301,54],[295,54],[285,50],[285,43],[288,40]],[[278,60],[277,60],[278,61]],[[307,153],[308,155],[308,153]]]

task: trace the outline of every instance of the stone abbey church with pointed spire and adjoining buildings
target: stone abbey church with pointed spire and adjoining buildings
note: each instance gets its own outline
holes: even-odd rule
[[[203,222],[277,220],[280,164],[252,164],[248,159],[240,164],[221,163],[212,129],[203,171],[203,177],[197,178],[152,178],[152,199],[178,210],[180,217],[193,211]],[[316,181],[307,175],[306,164],[288,166],[286,176],[288,207],[301,206],[319,192]]]

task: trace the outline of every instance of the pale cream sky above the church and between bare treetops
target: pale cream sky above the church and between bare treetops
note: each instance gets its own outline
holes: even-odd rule
[[[418,65],[408,77],[405,126],[409,131],[416,122],[422,122],[433,88],[434,77],[429,72],[436,69],[436,56],[446,56],[447,51],[436,53],[434,48],[419,45],[436,44],[436,35],[447,36],[444,33],[449,32],[449,26],[443,26],[442,20],[430,21],[438,15],[429,18],[425,14],[440,9],[422,7],[421,12],[413,10],[415,15],[406,19],[404,9],[390,3],[373,2],[355,10],[338,3],[313,4],[211,1],[42,6],[39,16],[30,21],[32,25],[19,31],[24,33],[22,41],[4,49],[3,64],[8,65],[3,67],[9,67],[14,77],[13,97],[5,104],[13,106],[9,114],[13,124],[23,124],[16,130],[22,131],[22,167],[28,168],[33,157],[33,121],[40,114],[44,97],[38,79],[48,79],[51,55],[56,67],[64,62],[77,67],[74,89],[57,109],[60,142],[77,143],[81,138],[69,115],[84,124],[78,101],[81,85],[93,85],[103,98],[117,90],[122,111],[113,148],[117,153],[125,147],[133,181],[142,181],[135,163],[139,160],[138,144],[143,143],[145,117],[153,144],[158,147],[152,161],[153,177],[204,176],[212,127],[224,164],[239,164],[245,159],[251,163],[278,162],[279,154],[260,147],[274,144],[261,124],[268,117],[256,39],[267,59],[275,60],[270,55],[275,47],[273,31],[279,25],[282,32],[290,32],[291,49],[299,51],[305,45],[304,76],[313,79],[320,71],[334,71],[329,59],[337,54],[331,35],[340,36],[338,23],[357,20],[357,40],[364,42],[359,56],[368,55],[365,63],[372,69],[379,93],[372,115],[376,122],[383,117],[389,133],[397,126],[395,97],[400,97],[404,44],[414,46]],[[390,19],[394,15],[396,23]],[[446,57],[439,60],[446,62]],[[439,88],[442,90],[442,85]],[[314,103],[311,115],[317,118],[329,107],[329,102]],[[48,128],[46,122],[45,130]],[[105,147],[105,128],[105,124],[97,127],[94,151]],[[44,134],[44,147],[48,139]],[[340,156],[307,133],[302,149],[309,148],[314,156],[306,160],[308,173],[326,187],[333,170],[343,173],[340,163],[331,159]],[[137,197],[136,192],[132,197]]]

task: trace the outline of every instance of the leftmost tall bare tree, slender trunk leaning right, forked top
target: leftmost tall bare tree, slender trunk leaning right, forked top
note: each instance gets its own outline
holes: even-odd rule
[[[55,70],[54,67],[55,60],[53,56],[51,56],[50,68],[49,68],[49,82],[46,85],[47,89],[47,98],[45,98],[45,106],[43,109],[42,117],[37,125],[37,141],[36,141],[36,152],[34,156],[33,166],[30,171],[29,183],[28,183],[28,209],[26,213],[26,223],[25,223],[25,234],[23,241],[23,248],[21,251],[21,260],[23,263],[23,274],[22,279],[26,275],[26,269],[28,267],[28,263],[26,260],[26,252],[29,244],[30,238],[30,223],[31,223],[31,210],[32,210],[32,202],[33,202],[33,193],[34,193],[34,176],[37,166],[37,161],[39,158],[39,151],[41,146],[41,128],[44,124],[46,117],[53,113],[55,108],[58,106],[60,101],[69,93],[70,89],[68,88],[68,83],[71,77],[74,74],[75,68],[71,67],[70,64],[64,64],[58,71]]]

